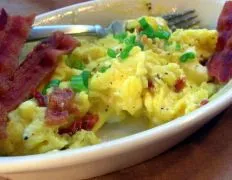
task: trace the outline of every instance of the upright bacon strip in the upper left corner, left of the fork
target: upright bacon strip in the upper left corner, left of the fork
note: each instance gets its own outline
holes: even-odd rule
[[[35,15],[9,16],[0,14],[0,94],[10,86],[10,79],[19,65],[18,57],[27,39]]]

